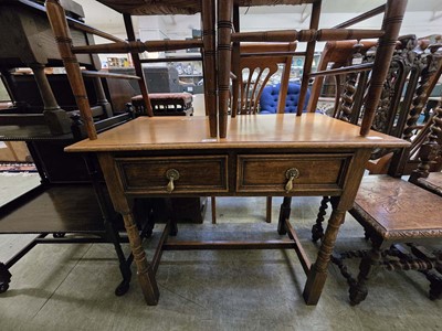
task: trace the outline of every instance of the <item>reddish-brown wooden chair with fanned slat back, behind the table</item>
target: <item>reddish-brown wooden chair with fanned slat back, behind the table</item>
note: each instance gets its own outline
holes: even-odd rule
[[[260,98],[272,76],[281,71],[277,113],[284,113],[292,58],[296,43],[244,44],[232,52],[231,116],[259,113]],[[211,197],[212,224],[217,223],[217,202]],[[265,221],[272,220],[272,197],[266,200]]]

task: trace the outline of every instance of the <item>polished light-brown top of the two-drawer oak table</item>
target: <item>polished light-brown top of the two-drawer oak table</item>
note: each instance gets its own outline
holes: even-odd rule
[[[225,148],[402,148],[409,142],[380,132],[359,136],[359,127],[322,114],[246,115],[229,118],[228,137],[211,138],[209,119],[139,117],[65,148],[69,152]]]

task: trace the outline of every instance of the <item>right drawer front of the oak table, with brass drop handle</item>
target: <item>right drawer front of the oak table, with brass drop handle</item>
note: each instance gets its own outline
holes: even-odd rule
[[[260,154],[238,156],[238,192],[328,192],[338,194],[351,154]],[[287,191],[290,173],[295,172]]]

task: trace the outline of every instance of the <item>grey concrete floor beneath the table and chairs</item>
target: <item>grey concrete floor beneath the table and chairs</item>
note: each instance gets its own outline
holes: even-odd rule
[[[34,185],[35,175],[0,175],[0,204]],[[274,199],[277,220],[281,199]],[[315,258],[309,241],[318,199],[294,199],[293,225]],[[266,224],[265,199],[218,199],[218,224],[179,226],[179,237],[275,238]],[[161,225],[158,225],[160,229]],[[0,260],[8,260],[30,235],[1,235]],[[158,238],[158,233],[154,238]],[[124,245],[128,252],[128,245]],[[366,246],[360,226],[347,217],[337,249]],[[146,245],[148,257],[152,245]],[[357,264],[350,267],[356,270]],[[134,268],[135,270],[135,268]],[[158,269],[158,306],[143,300],[136,277],[129,291],[114,296],[120,281],[108,244],[38,245],[11,269],[0,295],[0,330],[440,330],[441,301],[428,299],[428,281],[418,273],[380,271],[366,301],[348,303],[347,285],[329,267],[319,303],[305,306],[305,276],[294,252],[166,252]],[[439,327],[438,327],[439,325]]]

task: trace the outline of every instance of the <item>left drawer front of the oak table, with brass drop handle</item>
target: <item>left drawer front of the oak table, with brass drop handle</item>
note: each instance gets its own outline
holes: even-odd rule
[[[126,193],[214,193],[228,192],[228,157],[118,158],[117,168]],[[170,170],[178,172],[168,191]],[[173,171],[173,172],[175,172]],[[176,173],[175,172],[175,173]],[[169,186],[170,189],[170,186]]]

